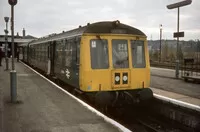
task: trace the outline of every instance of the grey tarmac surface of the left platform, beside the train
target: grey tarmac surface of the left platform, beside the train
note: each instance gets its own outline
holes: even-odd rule
[[[100,117],[100,112],[92,112],[22,63],[15,66],[16,104],[10,103],[10,71],[0,67],[0,132],[128,131],[111,119]]]

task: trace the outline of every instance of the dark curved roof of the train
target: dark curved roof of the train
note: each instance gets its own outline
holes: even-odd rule
[[[128,26],[126,24],[117,21],[103,21],[96,22],[92,24],[87,24],[86,26],[79,26],[79,28],[62,32],[59,34],[51,34],[45,37],[33,40],[30,43],[40,43],[42,41],[53,41],[57,39],[71,38],[75,36],[81,36],[84,33],[96,33],[96,34],[131,34],[131,35],[141,35],[146,36],[141,30]]]

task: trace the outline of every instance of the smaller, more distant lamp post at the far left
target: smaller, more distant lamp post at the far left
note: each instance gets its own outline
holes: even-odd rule
[[[5,32],[5,58],[6,58],[6,71],[8,70],[8,21],[9,17],[4,17],[4,20],[6,22],[6,29],[4,30]]]

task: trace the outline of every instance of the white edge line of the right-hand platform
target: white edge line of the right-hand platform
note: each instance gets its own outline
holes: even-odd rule
[[[183,106],[185,108],[189,108],[189,109],[200,112],[200,106],[198,106],[198,105],[193,105],[193,104],[190,104],[190,103],[186,103],[186,102],[183,102],[183,101],[180,101],[180,100],[172,99],[172,98],[165,97],[165,96],[162,96],[162,95],[158,95],[158,94],[155,94],[155,93],[153,95],[157,99],[167,101],[167,102],[170,102],[172,104],[175,104],[175,105],[178,105],[178,106]]]

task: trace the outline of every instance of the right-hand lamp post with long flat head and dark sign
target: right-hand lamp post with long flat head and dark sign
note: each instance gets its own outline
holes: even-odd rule
[[[184,32],[179,32],[179,8],[182,6],[186,6],[192,3],[192,0],[184,0],[178,3],[167,5],[168,9],[178,9],[178,17],[177,17],[177,32],[174,33],[174,37],[177,37],[177,52],[176,52],[176,78],[179,78],[179,37],[184,37]]]

